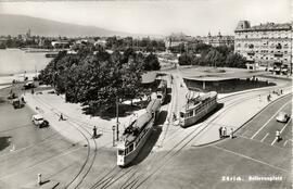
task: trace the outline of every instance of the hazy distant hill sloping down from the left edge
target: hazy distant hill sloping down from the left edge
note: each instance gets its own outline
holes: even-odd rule
[[[26,34],[28,28],[30,28],[31,35],[39,36],[138,36],[123,32],[107,30],[94,26],[81,26],[44,18],[12,14],[0,14],[0,35],[12,36]]]

